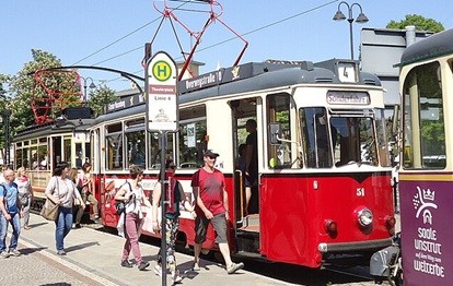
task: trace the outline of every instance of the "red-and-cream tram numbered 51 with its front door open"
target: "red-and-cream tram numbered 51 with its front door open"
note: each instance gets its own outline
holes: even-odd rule
[[[202,151],[220,154],[235,254],[321,267],[335,258],[369,255],[391,243],[394,207],[383,88],[357,61],[251,62],[178,84],[179,130],[167,136],[166,156],[191,194]],[[102,218],[115,227],[115,189],[131,164],[144,169],[152,192],[160,169],[159,134],[146,128],[142,94],[123,98],[90,128],[93,175]],[[245,122],[257,122],[256,214],[244,210],[236,170]],[[178,239],[194,243],[194,221],[182,208]],[[146,235],[152,235],[144,233]],[[208,234],[205,249],[214,249]]]

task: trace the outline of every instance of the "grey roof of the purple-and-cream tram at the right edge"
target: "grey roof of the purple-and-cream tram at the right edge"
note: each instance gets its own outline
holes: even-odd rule
[[[395,67],[429,60],[453,52],[453,28],[429,36],[410,45],[403,52],[402,61]]]

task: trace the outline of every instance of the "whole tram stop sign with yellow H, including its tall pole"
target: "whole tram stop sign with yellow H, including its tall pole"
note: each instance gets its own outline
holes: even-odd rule
[[[148,60],[146,70],[147,129],[150,132],[159,132],[161,139],[161,266],[164,286],[166,286],[165,206],[169,204],[165,186],[170,183],[165,178],[166,138],[169,133],[178,130],[177,79],[176,63],[165,51],[159,51]]]

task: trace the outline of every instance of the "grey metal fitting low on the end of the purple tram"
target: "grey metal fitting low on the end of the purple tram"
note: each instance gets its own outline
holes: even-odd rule
[[[400,233],[392,240],[392,246],[375,252],[370,259],[370,274],[375,284],[388,281],[392,286],[402,285]]]

